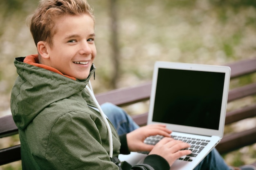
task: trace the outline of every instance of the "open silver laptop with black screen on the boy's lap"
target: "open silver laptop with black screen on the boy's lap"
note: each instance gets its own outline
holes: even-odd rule
[[[155,63],[147,124],[165,124],[171,136],[189,143],[192,151],[177,159],[171,170],[193,170],[222,139],[229,80],[228,66]],[[162,137],[144,142],[155,144],[155,138]],[[132,161],[144,155],[134,154]]]

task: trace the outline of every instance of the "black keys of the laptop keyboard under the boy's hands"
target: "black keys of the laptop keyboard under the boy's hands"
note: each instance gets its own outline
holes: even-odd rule
[[[196,157],[204,149],[204,147],[207,146],[207,144],[210,142],[209,140],[197,139],[197,138],[191,138],[191,137],[180,137],[180,136],[171,136],[171,137],[175,140],[180,140],[190,144],[190,148],[185,148],[183,150],[191,150],[192,153],[189,155],[186,155],[185,157],[179,158],[180,160],[183,160],[183,161],[193,161],[193,157]],[[162,138],[164,137],[161,135],[150,136],[144,140],[144,143],[149,145],[155,145]],[[149,152],[140,152],[140,153],[148,154]]]

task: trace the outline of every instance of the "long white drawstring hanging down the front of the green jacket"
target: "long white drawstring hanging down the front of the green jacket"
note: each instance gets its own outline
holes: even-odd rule
[[[103,113],[103,110],[101,109],[101,106],[99,105],[96,97],[94,96],[94,93],[92,91],[92,85],[89,81],[89,87],[85,86],[86,90],[89,92],[90,96],[92,97],[93,101],[95,102],[97,108],[99,109],[99,113],[101,114],[101,117],[103,117],[103,120],[105,122],[105,124],[107,125],[107,129],[108,129],[108,138],[109,138],[109,157],[112,158],[113,157],[113,140],[112,140],[112,132],[111,132],[111,128],[108,124],[108,120],[106,118],[106,115]]]

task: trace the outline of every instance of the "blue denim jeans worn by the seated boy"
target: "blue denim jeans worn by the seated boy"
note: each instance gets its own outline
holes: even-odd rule
[[[122,108],[110,103],[101,105],[101,108],[111,123],[115,126],[118,135],[123,135],[139,128]],[[229,170],[229,167],[214,148],[194,170]]]

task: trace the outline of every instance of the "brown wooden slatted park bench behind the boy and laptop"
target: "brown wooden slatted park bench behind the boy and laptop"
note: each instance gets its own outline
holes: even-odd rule
[[[249,97],[252,102],[241,108],[228,110],[226,115],[225,125],[234,122],[252,118],[256,116],[256,58],[249,60],[242,60],[227,64],[231,67],[231,83],[237,84],[237,79],[249,79],[248,84],[241,83],[235,88],[229,90],[228,103],[241,100]],[[253,81],[254,79],[254,81]],[[234,83],[232,83],[234,81]],[[117,106],[130,106],[139,102],[148,101],[150,97],[151,82],[133,86],[129,88],[121,88],[112,90],[106,93],[96,95],[99,104],[104,102],[111,102]],[[133,115],[132,118],[139,124],[144,126],[147,121],[148,113],[141,113]],[[11,115],[0,118],[0,138],[9,137],[18,134],[18,129],[13,122]],[[220,153],[227,153],[244,146],[256,143],[256,128],[244,130],[242,132],[235,132],[227,134],[222,141],[216,146]],[[20,145],[11,146],[0,149],[0,165],[11,163],[20,160]],[[256,163],[255,163],[256,164]]]

